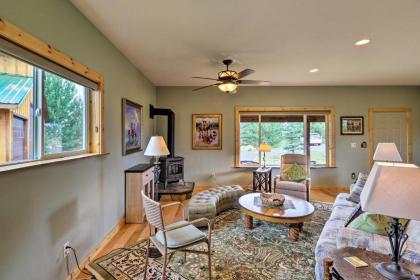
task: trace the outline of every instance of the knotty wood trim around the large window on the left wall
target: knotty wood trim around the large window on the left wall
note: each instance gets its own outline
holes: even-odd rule
[[[97,156],[106,154],[104,152],[104,79],[89,67],[75,61],[70,56],[61,53],[59,50],[53,48],[51,45],[43,42],[35,36],[23,31],[14,24],[8,22],[4,18],[0,18],[0,37],[17,44],[41,57],[44,57],[66,69],[73,71],[98,85],[98,90],[91,90],[89,96],[89,115],[92,119],[89,121],[89,136],[87,143],[87,151],[84,154],[59,154],[56,158],[48,158],[43,160],[34,160],[32,162],[9,164],[0,167],[0,172],[10,169],[21,169],[19,165],[43,165],[40,162],[45,161],[46,164],[53,162],[60,162],[68,158],[73,160],[75,158],[85,158],[90,156]],[[31,164],[30,164],[31,163]]]

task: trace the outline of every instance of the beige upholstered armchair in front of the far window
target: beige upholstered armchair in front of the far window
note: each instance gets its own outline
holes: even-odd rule
[[[297,164],[306,171],[306,178],[301,181],[288,181],[283,174],[288,167]],[[284,154],[281,156],[280,175],[274,180],[274,192],[287,194],[309,201],[309,191],[311,188],[310,168],[305,155]]]

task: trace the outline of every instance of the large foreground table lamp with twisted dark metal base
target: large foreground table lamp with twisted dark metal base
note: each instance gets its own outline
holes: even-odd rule
[[[391,262],[376,270],[388,279],[416,279],[399,262],[408,235],[399,219],[420,220],[420,168],[414,164],[376,162],[360,195],[362,210],[392,217],[386,229]]]

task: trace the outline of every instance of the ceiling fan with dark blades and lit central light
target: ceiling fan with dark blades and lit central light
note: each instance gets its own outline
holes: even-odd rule
[[[199,87],[193,89],[193,91],[217,86],[221,91],[225,93],[235,94],[236,89],[239,85],[268,85],[270,83],[269,81],[242,80],[242,78],[255,73],[255,70],[245,69],[239,73],[234,70],[229,70],[229,65],[231,65],[232,62],[233,61],[231,59],[223,60],[223,64],[226,65],[226,70],[220,71],[217,79],[206,77],[193,77],[194,79],[217,81],[217,83],[215,84]]]

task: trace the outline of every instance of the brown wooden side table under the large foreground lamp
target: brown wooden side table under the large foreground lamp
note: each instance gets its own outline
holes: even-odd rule
[[[368,264],[367,267],[355,268],[345,257],[356,256]],[[388,280],[376,271],[376,265],[381,262],[390,262],[391,258],[380,253],[366,251],[362,248],[341,248],[333,252],[330,257],[324,259],[324,280]],[[402,262],[404,266],[418,274],[419,266],[408,262]],[[417,278],[414,278],[417,279]],[[414,280],[413,279],[413,280]]]

